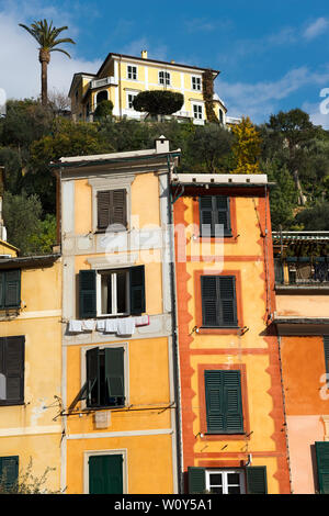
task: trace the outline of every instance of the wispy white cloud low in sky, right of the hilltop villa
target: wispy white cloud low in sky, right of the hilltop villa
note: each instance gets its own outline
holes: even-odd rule
[[[305,87],[329,83],[329,67],[322,72],[307,67],[290,70],[276,81],[229,83],[218,80],[216,92],[224,99],[229,116],[248,115],[256,123],[264,122],[280,109],[280,101]],[[315,115],[315,113],[314,113]]]

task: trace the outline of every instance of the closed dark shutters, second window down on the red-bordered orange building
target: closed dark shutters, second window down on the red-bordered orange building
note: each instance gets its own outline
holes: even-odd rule
[[[236,279],[234,276],[202,276],[201,295],[203,326],[237,326]]]

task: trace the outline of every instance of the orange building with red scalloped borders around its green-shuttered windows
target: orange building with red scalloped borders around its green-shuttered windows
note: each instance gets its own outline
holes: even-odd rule
[[[172,188],[184,491],[290,493],[266,176]]]

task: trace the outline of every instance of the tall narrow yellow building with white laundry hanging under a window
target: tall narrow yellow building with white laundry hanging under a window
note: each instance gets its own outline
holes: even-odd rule
[[[61,158],[63,479],[67,493],[174,493],[169,168],[156,148]]]

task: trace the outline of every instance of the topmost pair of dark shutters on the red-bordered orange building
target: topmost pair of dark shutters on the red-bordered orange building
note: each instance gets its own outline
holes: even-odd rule
[[[203,195],[198,200],[201,236],[219,236],[216,233],[220,224],[224,236],[231,235],[229,198],[225,195]]]

